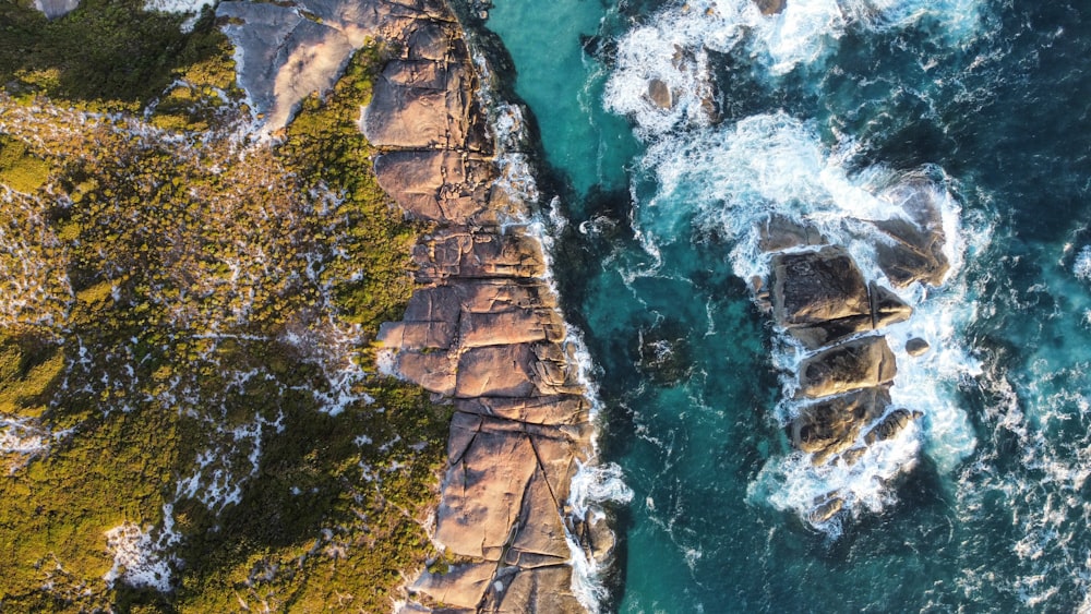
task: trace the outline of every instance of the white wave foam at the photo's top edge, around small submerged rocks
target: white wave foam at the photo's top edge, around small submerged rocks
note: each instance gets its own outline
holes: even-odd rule
[[[982,24],[981,0],[792,0],[766,15],[753,0],[671,4],[618,41],[606,86],[608,110],[628,116],[637,135],[652,140],[679,128],[712,122],[710,53],[733,52],[766,82],[796,68],[820,72],[850,28],[872,33],[927,27],[961,45]],[[728,93],[730,96],[730,93]]]

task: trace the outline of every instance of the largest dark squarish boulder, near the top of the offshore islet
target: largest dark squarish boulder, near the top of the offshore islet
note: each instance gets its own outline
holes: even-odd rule
[[[772,305],[784,327],[823,324],[871,313],[867,286],[841,248],[772,257]]]

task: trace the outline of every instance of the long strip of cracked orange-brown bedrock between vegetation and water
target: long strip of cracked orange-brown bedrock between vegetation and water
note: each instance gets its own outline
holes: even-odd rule
[[[377,342],[392,372],[455,409],[434,533],[451,564],[410,590],[442,612],[582,612],[566,535],[600,563],[613,539],[603,522],[568,516],[590,402],[527,231],[531,205],[496,184],[479,75],[454,17],[439,1],[398,7],[416,16],[387,34],[398,56],[361,129],[382,151],[380,185],[431,228],[412,253],[421,286]]]

